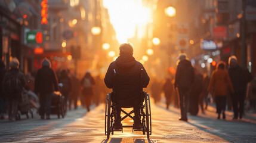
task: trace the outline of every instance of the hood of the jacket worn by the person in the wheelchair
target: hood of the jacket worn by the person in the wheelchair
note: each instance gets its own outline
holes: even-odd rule
[[[136,63],[137,61],[135,60],[135,58],[132,57],[132,55],[128,54],[120,55],[116,59],[116,66],[118,66],[121,69],[129,69],[135,66]]]

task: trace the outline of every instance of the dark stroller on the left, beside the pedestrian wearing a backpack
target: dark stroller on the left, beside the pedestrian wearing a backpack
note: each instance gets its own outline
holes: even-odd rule
[[[21,119],[20,116],[23,114],[26,114],[27,119],[29,119],[29,114],[33,118],[33,111],[30,106],[29,95],[27,94],[27,91],[26,90],[23,91],[21,95],[22,95],[22,100],[21,102],[18,103],[18,111],[17,111],[16,119],[20,120]]]

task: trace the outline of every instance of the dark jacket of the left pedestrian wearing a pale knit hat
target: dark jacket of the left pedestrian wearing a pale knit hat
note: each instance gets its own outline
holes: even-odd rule
[[[50,93],[53,91],[58,91],[57,77],[53,69],[43,66],[36,74],[35,94]]]

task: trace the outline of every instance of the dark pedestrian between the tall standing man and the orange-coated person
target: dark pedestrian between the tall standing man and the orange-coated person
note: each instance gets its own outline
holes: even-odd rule
[[[203,83],[202,83],[202,74],[198,73],[195,69],[195,80],[192,83],[189,91],[189,113],[196,116],[199,111],[199,99],[201,98],[201,93],[203,91]],[[203,111],[203,105],[201,105],[201,110]]]

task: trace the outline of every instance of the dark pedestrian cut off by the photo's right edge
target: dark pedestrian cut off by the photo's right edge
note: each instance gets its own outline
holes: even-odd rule
[[[256,111],[256,74],[252,82],[248,85],[247,99],[249,101],[249,108]]]

